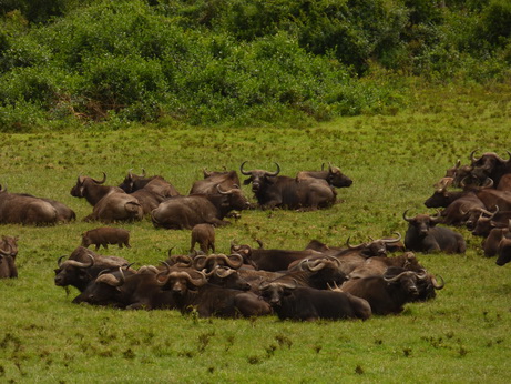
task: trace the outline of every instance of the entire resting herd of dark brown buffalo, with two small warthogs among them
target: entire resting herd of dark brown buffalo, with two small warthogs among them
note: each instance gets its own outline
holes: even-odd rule
[[[410,302],[427,301],[443,287],[420,265],[413,252],[464,253],[462,235],[446,225],[466,225],[483,236],[487,256],[497,264],[511,261],[511,153],[504,160],[493,152],[470,154],[470,164],[447,170],[425,204],[443,208],[435,215],[410,216],[405,240],[394,236],[361,244],[331,246],[311,240],[305,250],[265,249],[231,244],[229,254],[215,253],[215,228],[246,209],[317,210],[336,202],[337,188],[352,181],[331,164],[296,176],[275,171],[239,171],[252,184],[253,204],[239,188],[236,171],[208,172],[182,195],[162,176],[129,172],[119,186],[79,176],[71,195],[92,205],[85,221],[120,223],[150,218],[154,226],[191,230],[188,254],[172,254],[159,266],[134,270],[127,260],[98,254],[100,246],[130,247],[130,233],[102,226],[82,234],[82,245],[58,261],[54,283],[74,286],[74,303],[121,309],[176,309],[200,316],[258,316],[279,319],[362,319],[397,314]],[[449,188],[457,188],[450,191]],[[51,225],[75,220],[64,204],[30,194],[9,193],[0,186],[0,223]],[[0,241],[0,277],[17,277],[16,236]],[[195,251],[195,244],[201,251]],[[95,252],[88,246],[94,244]],[[389,256],[388,253],[399,252]]]

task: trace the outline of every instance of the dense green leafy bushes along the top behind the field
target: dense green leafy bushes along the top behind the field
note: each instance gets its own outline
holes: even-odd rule
[[[504,0],[9,0],[0,129],[286,123],[509,78]]]

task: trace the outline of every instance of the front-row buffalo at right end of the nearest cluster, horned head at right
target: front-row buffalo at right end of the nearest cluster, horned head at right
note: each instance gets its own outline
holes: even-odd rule
[[[428,279],[430,276],[426,271],[418,273],[391,267],[384,276],[348,280],[340,286],[340,291],[367,300],[374,314],[397,314],[403,311],[406,303],[418,301],[425,295],[421,290],[427,290],[428,285],[422,281]],[[443,285],[436,286],[440,289]]]

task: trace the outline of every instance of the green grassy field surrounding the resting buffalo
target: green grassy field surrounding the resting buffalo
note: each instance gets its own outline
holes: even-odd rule
[[[486,259],[481,239],[467,230],[464,255],[419,261],[446,280],[433,301],[408,304],[397,316],[366,322],[293,323],[276,316],[196,319],[175,311],[119,311],[74,305],[53,284],[57,259],[100,226],[81,221],[92,208],[70,195],[79,174],[108,174],[119,184],[130,169],[161,174],[185,194],[202,169],[274,169],[282,174],[331,162],[354,180],[339,203],[317,212],[248,211],[217,229],[229,243],[303,249],[311,239],[343,245],[348,236],[402,234],[409,214],[432,212],[423,201],[432,184],[472,150],[511,150],[510,88],[461,92],[435,89],[410,97],[396,115],[362,115],[311,127],[237,130],[168,125],[98,132],[1,135],[0,184],[10,192],[59,200],[74,223],[3,225],[19,235],[19,279],[0,281],[0,382],[492,382],[508,381],[511,355],[510,266]],[[252,198],[248,186],[244,186]],[[186,253],[190,231],[165,231],[149,220],[122,224],[132,249],[109,249],[143,264]]]

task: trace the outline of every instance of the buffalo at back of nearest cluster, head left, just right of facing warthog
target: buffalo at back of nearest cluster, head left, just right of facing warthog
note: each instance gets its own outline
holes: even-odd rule
[[[324,256],[324,254],[314,250],[266,250],[263,247],[253,249],[247,244],[232,244],[231,252],[241,254],[245,264],[252,265],[256,270],[269,272],[286,271],[289,267],[289,264],[295,261],[310,259],[314,256]]]

